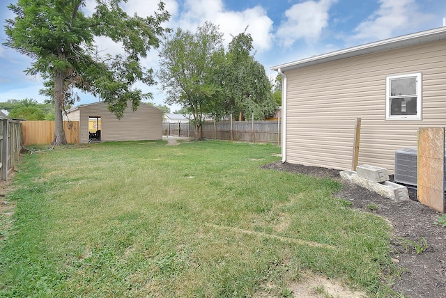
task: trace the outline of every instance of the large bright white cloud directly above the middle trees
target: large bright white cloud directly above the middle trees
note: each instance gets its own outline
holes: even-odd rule
[[[243,11],[226,10],[222,0],[187,0],[185,12],[178,15],[178,26],[194,32],[197,26],[206,21],[220,26],[224,33],[224,43],[229,44],[232,36],[245,31],[253,39],[254,49],[259,52],[272,47],[272,19],[261,6],[255,6]]]

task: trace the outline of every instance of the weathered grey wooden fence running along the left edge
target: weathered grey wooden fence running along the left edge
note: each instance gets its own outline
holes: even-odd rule
[[[20,121],[0,118],[1,180],[8,181],[10,171],[15,169],[22,149],[22,124]]]

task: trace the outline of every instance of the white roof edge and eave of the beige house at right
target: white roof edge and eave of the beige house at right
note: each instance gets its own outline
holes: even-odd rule
[[[433,42],[436,40],[445,39],[446,27],[440,27],[418,33],[408,34],[406,36],[399,36],[396,38],[389,38],[386,40],[371,42],[366,45],[360,45],[357,47],[349,47],[347,49],[341,49],[339,51],[330,52],[328,54],[316,55],[302,60],[272,66],[271,70],[280,70],[283,72],[296,68],[304,68],[310,65],[350,58],[353,56],[371,54],[375,52],[386,51],[389,49],[397,49],[400,47],[408,47],[410,45],[419,45],[426,42]]]

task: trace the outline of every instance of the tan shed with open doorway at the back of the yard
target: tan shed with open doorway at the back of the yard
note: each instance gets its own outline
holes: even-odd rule
[[[141,102],[132,111],[128,102],[123,118],[118,120],[107,106],[106,102],[95,102],[67,112],[64,120],[79,121],[79,143],[162,139],[162,110]]]

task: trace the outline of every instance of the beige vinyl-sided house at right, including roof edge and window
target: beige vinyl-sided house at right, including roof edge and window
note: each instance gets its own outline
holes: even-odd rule
[[[361,118],[358,164],[392,173],[420,127],[446,125],[446,27],[271,69],[283,77],[282,162],[350,169]]]

